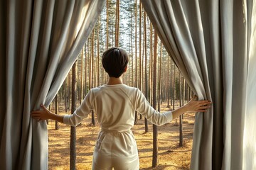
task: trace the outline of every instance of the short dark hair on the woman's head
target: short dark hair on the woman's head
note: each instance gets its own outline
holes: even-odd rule
[[[127,52],[119,47],[112,47],[102,55],[102,65],[110,77],[119,78],[125,71],[129,58]]]

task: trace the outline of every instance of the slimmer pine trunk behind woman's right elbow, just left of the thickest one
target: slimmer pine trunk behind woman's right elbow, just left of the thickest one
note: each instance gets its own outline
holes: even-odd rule
[[[149,100],[148,84],[147,84],[147,56],[146,56],[146,12],[144,12],[144,47],[145,47],[145,97]],[[148,121],[144,118],[145,132],[149,132]]]

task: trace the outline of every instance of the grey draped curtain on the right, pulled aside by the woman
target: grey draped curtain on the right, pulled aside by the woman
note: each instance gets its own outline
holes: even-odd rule
[[[247,123],[255,118],[255,1],[142,4],[191,89],[213,101],[196,113],[191,169],[255,168],[256,129]]]

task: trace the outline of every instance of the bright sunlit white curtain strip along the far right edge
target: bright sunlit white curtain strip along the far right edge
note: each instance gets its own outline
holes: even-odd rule
[[[256,3],[248,3],[248,53],[247,64],[247,93],[246,93],[246,111],[245,111],[245,132],[243,145],[243,169],[256,169]],[[254,16],[254,17],[252,17]],[[251,18],[250,18],[251,17]]]

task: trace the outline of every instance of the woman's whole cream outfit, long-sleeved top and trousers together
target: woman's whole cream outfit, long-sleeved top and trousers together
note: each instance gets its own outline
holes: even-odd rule
[[[137,144],[131,130],[135,111],[156,125],[172,120],[171,112],[155,111],[139,89],[117,84],[91,89],[73,115],[64,116],[64,123],[78,125],[92,110],[102,128],[93,152],[92,169],[139,169]]]

